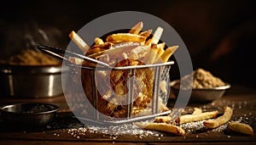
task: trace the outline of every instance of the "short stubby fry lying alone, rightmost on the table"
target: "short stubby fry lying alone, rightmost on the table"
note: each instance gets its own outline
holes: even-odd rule
[[[231,121],[228,127],[231,131],[236,131],[247,135],[253,135],[253,128],[250,125],[244,123]]]

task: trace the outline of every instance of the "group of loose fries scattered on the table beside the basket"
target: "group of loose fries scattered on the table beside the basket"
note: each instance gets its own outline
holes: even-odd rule
[[[240,132],[247,135],[253,135],[253,128],[250,125],[240,123],[237,121],[230,121],[233,115],[233,109],[229,106],[224,108],[224,113],[218,116],[218,110],[210,112],[202,112],[199,108],[194,108],[192,114],[183,114],[172,120],[172,116],[158,116],[152,122],[136,122],[135,125],[147,130],[166,131],[178,136],[185,136],[186,132],[180,126],[184,123],[193,123],[195,121],[203,120],[206,128],[214,129],[220,125],[228,124],[231,131]],[[230,123],[229,123],[230,122]]]

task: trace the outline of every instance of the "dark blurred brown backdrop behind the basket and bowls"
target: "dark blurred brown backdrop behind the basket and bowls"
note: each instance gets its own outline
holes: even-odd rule
[[[79,31],[91,20],[117,11],[140,11],[172,25],[189,49],[194,70],[210,70],[230,84],[256,88],[254,8],[254,1],[248,0],[9,0],[0,8],[0,59],[35,43],[66,48],[70,31]],[[172,79],[179,77],[176,70]]]

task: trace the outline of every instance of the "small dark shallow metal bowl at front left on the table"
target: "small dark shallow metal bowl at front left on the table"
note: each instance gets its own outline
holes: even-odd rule
[[[45,125],[60,108],[50,103],[15,103],[0,108],[1,117],[19,125]]]

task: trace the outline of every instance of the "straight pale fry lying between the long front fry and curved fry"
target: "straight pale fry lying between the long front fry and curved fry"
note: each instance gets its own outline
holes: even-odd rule
[[[188,122],[207,120],[207,119],[215,118],[217,114],[218,114],[218,111],[204,112],[201,114],[184,114],[179,116],[176,122],[181,125],[183,123],[188,123]]]

